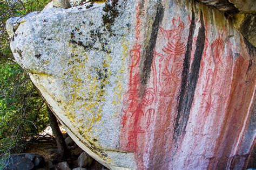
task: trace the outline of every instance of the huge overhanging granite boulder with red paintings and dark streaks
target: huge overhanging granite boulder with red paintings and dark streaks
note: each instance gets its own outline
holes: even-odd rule
[[[223,12],[119,0],[48,8],[7,25],[16,61],[104,166],[246,167],[256,50]]]

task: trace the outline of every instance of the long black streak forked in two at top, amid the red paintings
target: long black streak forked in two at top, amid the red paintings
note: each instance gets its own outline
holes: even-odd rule
[[[193,33],[195,29],[194,12],[192,11],[192,19],[190,25],[190,32],[187,41],[187,49],[185,53],[185,59],[183,63],[183,73],[181,81],[181,90],[178,101],[178,114],[174,125],[173,139],[177,140],[186,129],[187,121],[190,115],[191,105],[193,103],[194,91],[196,90],[197,81],[199,77],[200,62],[204,52],[205,44],[205,26],[203,20],[203,13],[200,13],[201,26],[198,31],[198,38],[196,41],[196,51],[194,53],[194,60],[191,65],[190,72],[190,60],[193,44]]]

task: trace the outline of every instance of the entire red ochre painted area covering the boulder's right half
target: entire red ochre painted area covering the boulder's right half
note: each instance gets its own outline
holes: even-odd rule
[[[140,5],[122,109],[122,149],[135,153],[139,169],[233,166],[230,155],[241,154],[246,145],[255,49],[240,37],[240,53],[234,54],[227,30],[212,36],[202,12],[192,11],[185,20],[177,15],[169,19],[170,28],[158,25],[145,79]]]

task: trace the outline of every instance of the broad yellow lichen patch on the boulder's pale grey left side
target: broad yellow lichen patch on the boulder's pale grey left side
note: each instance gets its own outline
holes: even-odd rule
[[[72,55],[67,61],[69,69],[62,77],[63,86],[70,90],[66,116],[81,136],[94,144],[95,136],[91,130],[97,131],[95,125],[102,118],[105,87],[109,84],[109,65],[112,58],[108,55],[98,66],[87,66],[89,56],[84,50],[74,45],[70,45],[70,48]]]

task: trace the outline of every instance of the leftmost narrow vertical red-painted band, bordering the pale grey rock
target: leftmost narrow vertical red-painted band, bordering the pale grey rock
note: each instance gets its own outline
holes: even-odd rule
[[[135,26],[135,38],[136,42],[130,51],[130,79],[129,87],[125,96],[126,106],[123,108],[123,133],[122,133],[122,147],[127,151],[136,151],[137,150],[137,136],[140,133],[144,133],[140,126],[140,121],[144,116],[144,108],[142,104],[142,98],[140,96],[140,70],[139,62],[141,58],[142,47],[139,44],[140,39],[140,29],[142,21],[140,15],[142,15],[141,6],[142,4],[138,3],[136,7],[136,26]],[[145,104],[150,103],[151,95],[145,98]]]

